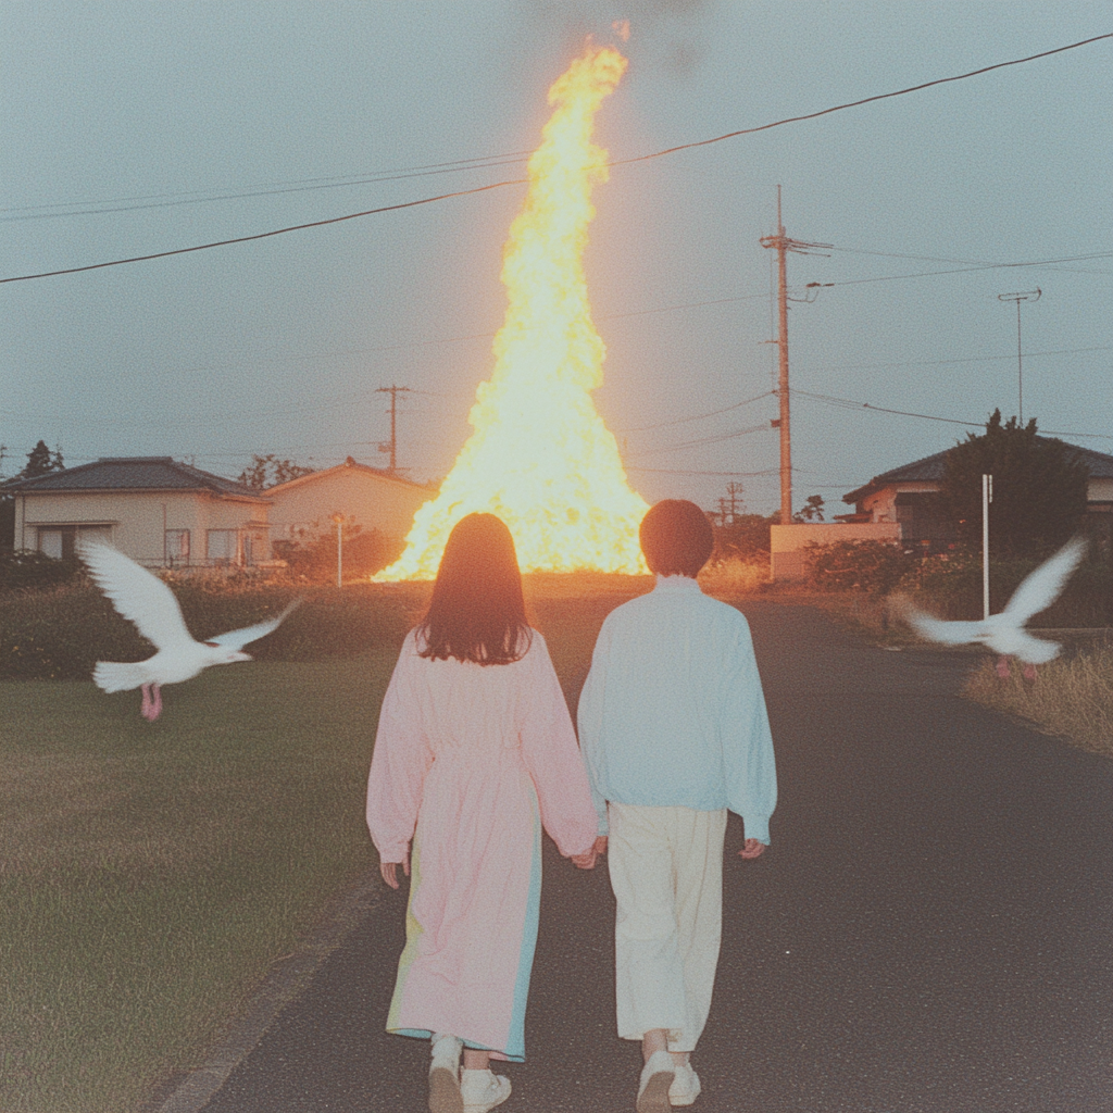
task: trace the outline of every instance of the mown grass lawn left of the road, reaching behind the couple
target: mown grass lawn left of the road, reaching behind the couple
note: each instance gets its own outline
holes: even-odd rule
[[[573,705],[604,615],[649,585],[526,578]],[[3,1113],[141,1109],[375,864],[364,791],[397,650],[209,669],[155,723],[138,692],[0,683]]]

